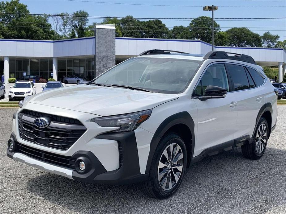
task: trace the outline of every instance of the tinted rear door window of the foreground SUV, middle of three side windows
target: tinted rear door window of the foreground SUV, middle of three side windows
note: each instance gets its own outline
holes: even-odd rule
[[[228,64],[228,71],[233,81],[235,91],[250,88],[248,78],[246,76],[246,72],[243,66]]]

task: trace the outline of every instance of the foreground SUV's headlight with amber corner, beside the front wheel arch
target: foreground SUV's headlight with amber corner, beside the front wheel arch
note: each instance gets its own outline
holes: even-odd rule
[[[152,109],[118,116],[94,118],[90,121],[103,127],[118,127],[114,132],[126,132],[136,129],[150,117],[151,113]]]

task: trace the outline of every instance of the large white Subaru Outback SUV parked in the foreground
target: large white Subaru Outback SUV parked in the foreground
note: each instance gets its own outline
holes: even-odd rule
[[[138,182],[159,199],[204,157],[241,146],[261,158],[277,119],[263,69],[224,51],[146,51],[19,105],[8,157],[83,182]]]

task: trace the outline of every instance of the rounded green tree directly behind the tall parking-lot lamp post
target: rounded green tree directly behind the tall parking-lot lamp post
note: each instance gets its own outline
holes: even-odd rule
[[[214,21],[214,35],[220,31],[220,25]],[[211,43],[212,19],[208,16],[200,16],[190,23],[191,37]]]

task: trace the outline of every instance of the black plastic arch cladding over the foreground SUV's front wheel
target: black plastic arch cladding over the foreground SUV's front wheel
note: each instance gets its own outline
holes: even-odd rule
[[[184,112],[179,112],[176,114],[173,114],[169,117],[167,117],[157,128],[151,143],[150,143],[150,151],[149,151],[149,156],[147,160],[147,165],[146,165],[146,171],[145,173],[148,173],[150,171],[150,166],[152,163],[152,158],[154,156],[155,150],[158,146],[158,143],[160,142],[161,138],[164,136],[165,133],[172,127],[176,125],[185,125],[189,128],[191,136],[190,136],[190,148],[186,145],[187,148],[187,153],[190,154],[187,160],[187,167],[190,165],[190,161],[193,158],[194,154],[194,121],[190,114],[186,111]],[[187,142],[185,142],[187,143]]]

